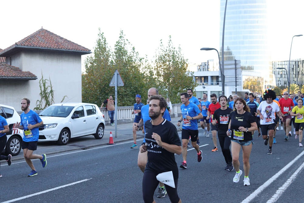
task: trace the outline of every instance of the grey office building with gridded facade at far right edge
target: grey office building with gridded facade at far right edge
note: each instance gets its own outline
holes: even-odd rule
[[[289,61],[273,61],[272,70],[275,75],[276,86],[288,87],[288,63]],[[285,68],[285,69],[277,69]],[[304,59],[290,61],[290,84],[302,86],[304,84]]]

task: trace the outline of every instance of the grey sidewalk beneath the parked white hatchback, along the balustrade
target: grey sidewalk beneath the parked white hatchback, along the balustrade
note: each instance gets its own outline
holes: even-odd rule
[[[180,117],[171,118],[171,122],[176,126],[176,128],[181,130],[182,126],[177,126],[177,121]],[[115,126],[106,125],[105,133],[102,139],[95,139],[93,135],[72,138],[67,145],[57,145],[56,142],[38,142],[37,150],[34,151],[35,154],[57,154],[75,150],[90,149],[97,146],[107,145],[109,143],[110,132],[112,132],[114,143],[130,141],[130,147],[133,145],[133,123],[118,124],[117,125],[117,137],[115,137]],[[142,143],[144,134],[141,131],[136,133],[137,144]],[[18,156],[13,156],[12,161],[24,160],[23,151],[21,149]],[[6,163],[5,160],[1,161],[3,164]]]

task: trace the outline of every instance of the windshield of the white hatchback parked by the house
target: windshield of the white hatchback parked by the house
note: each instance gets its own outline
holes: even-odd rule
[[[67,117],[70,115],[74,107],[68,106],[49,106],[43,109],[38,115],[39,116],[54,116],[54,117]]]

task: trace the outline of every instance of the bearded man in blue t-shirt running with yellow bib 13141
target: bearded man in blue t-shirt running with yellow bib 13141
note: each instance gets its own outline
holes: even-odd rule
[[[32,169],[28,176],[32,177],[38,175],[38,173],[31,159],[40,159],[42,167],[44,168],[47,166],[47,156],[46,154],[33,154],[34,150],[37,149],[39,126],[43,124],[43,121],[35,111],[29,109],[30,103],[30,100],[27,98],[23,98],[21,100],[21,110],[23,111],[23,113],[20,115],[21,123],[19,125],[17,122],[15,124],[15,127],[24,130],[24,136],[22,140],[23,156],[26,163]]]

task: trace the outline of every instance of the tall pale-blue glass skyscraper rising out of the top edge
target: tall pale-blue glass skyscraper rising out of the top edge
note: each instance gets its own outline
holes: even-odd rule
[[[226,0],[220,4],[220,45]],[[268,48],[266,0],[228,0],[225,20],[224,60],[241,60],[241,69],[254,72],[265,85],[272,84]],[[221,54],[220,54],[221,56]]]

